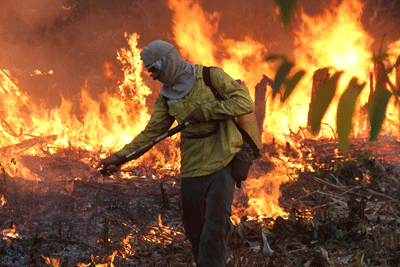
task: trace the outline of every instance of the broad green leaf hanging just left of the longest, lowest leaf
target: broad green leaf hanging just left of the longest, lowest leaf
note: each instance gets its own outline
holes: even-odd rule
[[[322,118],[325,115],[332,99],[335,95],[337,83],[342,75],[342,71],[336,72],[326,83],[318,90],[315,100],[311,103],[310,125],[311,131],[315,134],[319,131]]]

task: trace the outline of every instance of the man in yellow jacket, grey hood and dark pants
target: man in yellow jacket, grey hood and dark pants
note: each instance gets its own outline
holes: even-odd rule
[[[235,190],[229,162],[243,144],[232,118],[252,112],[254,103],[221,68],[211,69],[211,81],[224,98],[216,100],[203,81],[203,66],[185,62],[168,42],[154,41],[140,55],[150,76],[164,85],[145,129],[97,168],[166,132],[175,120],[190,121],[180,143],[185,234],[197,266],[225,266]]]

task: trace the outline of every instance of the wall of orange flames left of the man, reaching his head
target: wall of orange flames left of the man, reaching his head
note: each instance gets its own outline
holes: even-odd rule
[[[139,35],[126,34],[125,37],[129,47],[117,52],[123,69],[114,68],[120,84],[112,88],[113,91],[101,93],[100,100],[94,100],[88,86],[84,85],[73,101],[63,97],[59,108],[47,110],[19,89],[18,81],[12,78],[9,70],[0,70],[0,148],[3,152],[8,151],[4,155],[17,158],[18,175],[39,180],[18,160],[20,147],[25,154],[32,155],[42,152],[37,143],[51,143],[46,146],[51,154],[71,147],[98,152],[99,144],[104,151],[110,151],[121,148],[144,129],[150,118],[146,96],[151,91],[141,77],[143,65],[141,49],[137,47]],[[37,70],[35,75],[43,73]],[[32,145],[21,145],[28,145],[30,140],[33,140]],[[154,152],[135,162],[139,164],[150,156],[160,158],[160,166],[166,162],[160,153]],[[177,168],[177,162],[179,160],[171,165]]]

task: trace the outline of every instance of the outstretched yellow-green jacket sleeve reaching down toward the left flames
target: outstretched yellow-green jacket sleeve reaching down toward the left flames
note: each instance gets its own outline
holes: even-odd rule
[[[119,157],[128,155],[135,149],[147,144],[157,136],[169,130],[175,119],[168,113],[168,105],[160,94],[154,103],[154,111],[145,129],[138,134],[129,144],[126,144],[115,154]]]

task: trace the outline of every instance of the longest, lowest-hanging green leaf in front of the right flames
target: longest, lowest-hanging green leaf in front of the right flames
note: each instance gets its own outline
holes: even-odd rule
[[[352,129],[354,109],[357,98],[364,87],[365,83],[358,84],[357,78],[351,79],[346,91],[344,91],[339,100],[336,115],[336,127],[339,144],[344,151],[347,151],[350,145],[349,136]]]

